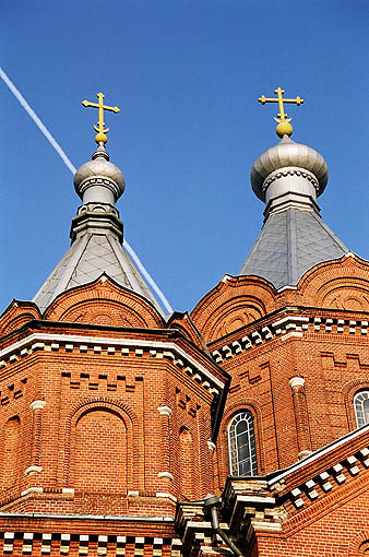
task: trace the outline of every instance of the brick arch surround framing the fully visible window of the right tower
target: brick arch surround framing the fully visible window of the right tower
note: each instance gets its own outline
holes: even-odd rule
[[[224,413],[222,426],[221,426],[221,435],[218,436],[217,442],[217,453],[219,459],[219,470],[229,470],[229,458],[228,458],[228,426],[231,418],[242,410],[251,411],[254,416],[253,427],[254,427],[254,436],[257,443],[257,459],[258,459],[258,471],[259,473],[263,473],[265,466],[265,458],[263,451],[263,438],[262,438],[262,410],[260,404],[253,399],[247,399],[243,401],[235,401],[229,404]],[[225,477],[222,478],[225,481]]]

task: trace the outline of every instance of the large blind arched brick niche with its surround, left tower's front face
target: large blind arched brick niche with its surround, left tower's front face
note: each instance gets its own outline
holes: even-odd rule
[[[81,491],[138,487],[138,418],[126,404],[81,402],[67,420],[63,484]]]

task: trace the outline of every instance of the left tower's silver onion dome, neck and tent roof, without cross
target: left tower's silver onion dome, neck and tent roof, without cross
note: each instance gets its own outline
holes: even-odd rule
[[[124,191],[120,169],[109,162],[103,143],[92,161],[75,173],[75,190],[83,204],[72,220],[72,245],[43,284],[33,301],[44,311],[62,292],[106,274],[115,282],[163,309],[122,247],[123,224],[115,202]]]

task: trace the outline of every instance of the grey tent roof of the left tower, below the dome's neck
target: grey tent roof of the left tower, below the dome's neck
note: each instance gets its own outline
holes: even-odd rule
[[[87,233],[76,238],[33,301],[44,311],[62,292],[91,283],[103,273],[121,286],[144,296],[163,315],[160,306],[120,241],[108,230],[103,234]]]

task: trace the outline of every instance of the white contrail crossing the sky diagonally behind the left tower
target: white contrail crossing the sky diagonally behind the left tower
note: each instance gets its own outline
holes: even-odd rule
[[[53,137],[51,135],[51,133],[49,132],[49,130],[46,128],[46,126],[41,122],[41,120],[38,118],[38,116],[36,115],[36,112],[31,108],[31,106],[28,105],[28,103],[26,102],[26,99],[24,98],[24,96],[20,93],[20,91],[15,87],[14,83],[8,78],[7,73],[2,70],[2,68],[0,68],[0,78],[2,79],[2,81],[5,83],[5,85],[8,85],[8,87],[10,88],[10,91],[13,93],[14,97],[19,100],[19,103],[23,106],[23,108],[25,109],[25,111],[27,112],[27,115],[33,119],[33,121],[35,122],[35,125],[37,126],[37,128],[44,133],[45,138],[51,143],[51,145],[53,146],[53,149],[56,150],[56,152],[58,153],[58,155],[62,158],[62,161],[64,162],[66,166],[70,169],[70,171],[74,175],[75,174],[75,166],[71,163],[71,161],[68,158],[68,156],[66,155],[64,151],[61,149],[61,146],[59,145],[59,143],[57,142],[56,139],[53,139]],[[152,288],[154,289],[154,292],[157,294],[157,296],[159,297],[159,299],[162,300],[165,309],[169,312],[169,313],[172,313],[172,307],[170,306],[169,301],[167,300],[167,298],[165,297],[165,295],[163,294],[163,292],[160,291],[160,288],[157,286],[157,284],[155,283],[154,278],[150,275],[148,271],[144,268],[143,263],[140,261],[140,258],[139,256],[135,253],[134,249],[128,244],[128,241],[126,239],[123,239],[123,246],[124,248],[127,249],[127,251],[129,252],[129,254],[132,257],[133,261],[135,262],[135,264],[138,265],[138,268],[140,269],[141,273],[143,274],[143,276],[146,278],[146,281],[148,282],[148,284],[152,286]]]

